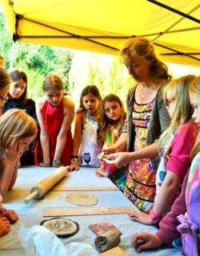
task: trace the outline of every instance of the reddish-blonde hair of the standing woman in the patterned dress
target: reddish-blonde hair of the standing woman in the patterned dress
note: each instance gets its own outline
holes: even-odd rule
[[[151,71],[151,85],[156,86],[163,82],[163,80],[171,79],[172,76],[168,74],[168,67],[165,63],[161,62],[155,54],[154,46],[146,38],[130,38],[122,50],[119,52],[120,56],[131,57],[132,54],[144,58],[150,65]]]

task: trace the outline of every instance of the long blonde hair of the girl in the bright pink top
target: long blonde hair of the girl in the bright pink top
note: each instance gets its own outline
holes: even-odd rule
[[[193,74],[188,74],[171,81],[163,90],[164,100],[174,103],[174,112],[171,115],[169,128],[159,138],[159,144],[164,147],[170,138],[173,130],[177,130],[186,122],[190,122],[194,108],[190,104],[189,86],[196,78]],[[169,152],[170,148],[167,150]]]

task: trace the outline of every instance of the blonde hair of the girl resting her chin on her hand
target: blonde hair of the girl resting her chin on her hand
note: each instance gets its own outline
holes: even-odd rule
[[[37,132],[34,118],[22,110],[8,110],[0,117],[0,143],[5,149],[20,138],[36,136]]]

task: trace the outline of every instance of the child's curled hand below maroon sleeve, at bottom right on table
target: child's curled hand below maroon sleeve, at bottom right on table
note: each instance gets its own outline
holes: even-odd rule
[[[133,234],[131,237],[131,242],[134,248],[138,251],[138,253],[142,252],[142,250],[162,246],[163,244],[162,240],[158,238],[158,235],[148,234],[145,232],[142,232],[140,234]]]

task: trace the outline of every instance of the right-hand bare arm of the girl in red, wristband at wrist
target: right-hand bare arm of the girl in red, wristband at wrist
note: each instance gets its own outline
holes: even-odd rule
[[[61,159],[62,152],[64,147],[66,146],[66,134],[70,129],[71,123],[74,120],[74,103],[70,101],[70,99],[64,98],[64,118],[62,121],[62,126],[59,131],[56,147],[55,147],[55,154],[54,154],[54,161],[58,161]],[[61,163],[62,164],[62,163]],[[52,166],[58,167],[58,163],[53,163]]]

